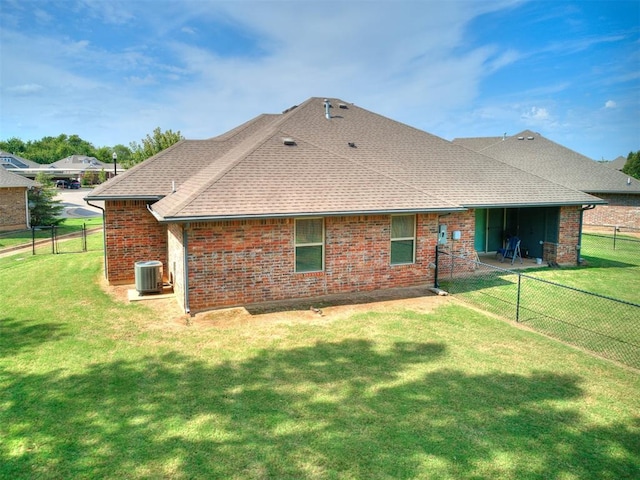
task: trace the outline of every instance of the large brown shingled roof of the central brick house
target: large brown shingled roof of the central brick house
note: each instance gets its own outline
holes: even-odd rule
[[[330,103],[330,119],[315,97],[219,137],[183,140],[87,199],[158,200],[152,209],[161,221],[603,203],[363,108]]]

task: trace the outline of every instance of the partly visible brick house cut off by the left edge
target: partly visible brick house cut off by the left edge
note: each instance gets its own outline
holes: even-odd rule
[[[27,192],[35,186],[33,180],[0,168],[0,230],[30,228]]]

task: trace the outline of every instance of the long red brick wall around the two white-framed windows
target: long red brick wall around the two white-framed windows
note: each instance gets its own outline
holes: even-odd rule
[[[294,271],[293,219],[193,223],[187,227],[190,309],[429,284],[437,216],[418,215],[416,223],[416,262],[390,265],[389,215],[328,217],[325,269],[313,273]],[[181,233],[171,227],[169,237],[169,271],[176,269],[181,284]]]

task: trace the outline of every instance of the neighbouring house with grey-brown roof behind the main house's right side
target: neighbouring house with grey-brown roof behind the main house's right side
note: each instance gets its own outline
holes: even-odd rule
[[[615,168],[530,130],[509,137],[456,138],[453,143],[605,200],[606,205],[585,211],[585,224],[640,228],[640,181]]]

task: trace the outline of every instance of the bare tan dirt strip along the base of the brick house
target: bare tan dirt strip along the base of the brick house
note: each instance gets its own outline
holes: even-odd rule
[[[132,285],[108,285],[102,288],[115,300],[129,303]],[[367,312],[413,310],[428,313],[448,303],[449,297],[432,293],[428,287],[391,288],[372,292],[327,295],[298,300],[265,302],[243,307],[223,308],[185,314],[174,297],[143,300],[157,315],[157,326],[186,325],[196,328],[235,328],[256,323],[323,324]]]

